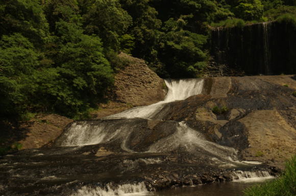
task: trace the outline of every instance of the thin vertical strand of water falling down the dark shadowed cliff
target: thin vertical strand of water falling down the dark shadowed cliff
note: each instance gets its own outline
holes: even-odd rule
[[[269,58],[269,36],[268,36],[268,31],[269,31],[269,22],[263,22],[262,23],[262,28],[263,28],[263,48],[264,48],[264,65],[265,65],[265,74],[269,74],[269,63],[270,63],[270,58]]]

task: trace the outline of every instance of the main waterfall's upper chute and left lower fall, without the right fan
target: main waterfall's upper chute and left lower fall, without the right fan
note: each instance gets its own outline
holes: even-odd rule
[[[58,139],[59,146],[91,145],[97,143],[107,143],[111,140],[119,139],[122,141],[121,148],[126,148],[126,140],[133,130],[139,129],[134,120],[126,118],[145,118],[151,119],[156,115],[165,104],[177,100],[185,100],[189,96],[201,94],[203,90],[203,79],[188,80],[165,80],[168,88],[164,101],[150,106],[135,107],[127,111],[110,115],[99,121],[77,121],[73,122],[64,132],[62,138]],[[117,119],[117,120],[116,120]],[[120,120],[122,119],[122,120]],[[125,119],[125,120],[124,120]]]

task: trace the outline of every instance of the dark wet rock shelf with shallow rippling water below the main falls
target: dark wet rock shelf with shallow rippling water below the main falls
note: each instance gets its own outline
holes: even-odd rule
[[[24,150],[0,160],[4,195],[71,195],[83,186],[144,182],[149,190],[230,181],[233,171],[270,170],[266,165],[223,165],[206,157],[173,153],[120,153],[108,146]],[[222,167],[220,167],[222,166]],[[219,168],[220,167],[220,168]],[[271,171],[271,170],[270,170]],[[276,173],[274,173],[276,174]]]

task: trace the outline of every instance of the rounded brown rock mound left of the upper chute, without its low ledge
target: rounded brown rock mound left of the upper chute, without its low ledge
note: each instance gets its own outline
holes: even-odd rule
[[[128,65],[115,76],[116,100],[133,106],[154,104],[164,99],[164,81],[144,62],[121,53]]]

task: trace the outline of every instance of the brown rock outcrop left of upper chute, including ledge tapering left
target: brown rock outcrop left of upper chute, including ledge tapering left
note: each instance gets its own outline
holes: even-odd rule
[[[162,101],[166,94],[164,81],[142,59],[125,53],[118,56],[125,67],[115,75],[113,100],[102,104],[101,110],[92,113],[92,118],[102,118],[127,110],[133,106],[146,106]]]

